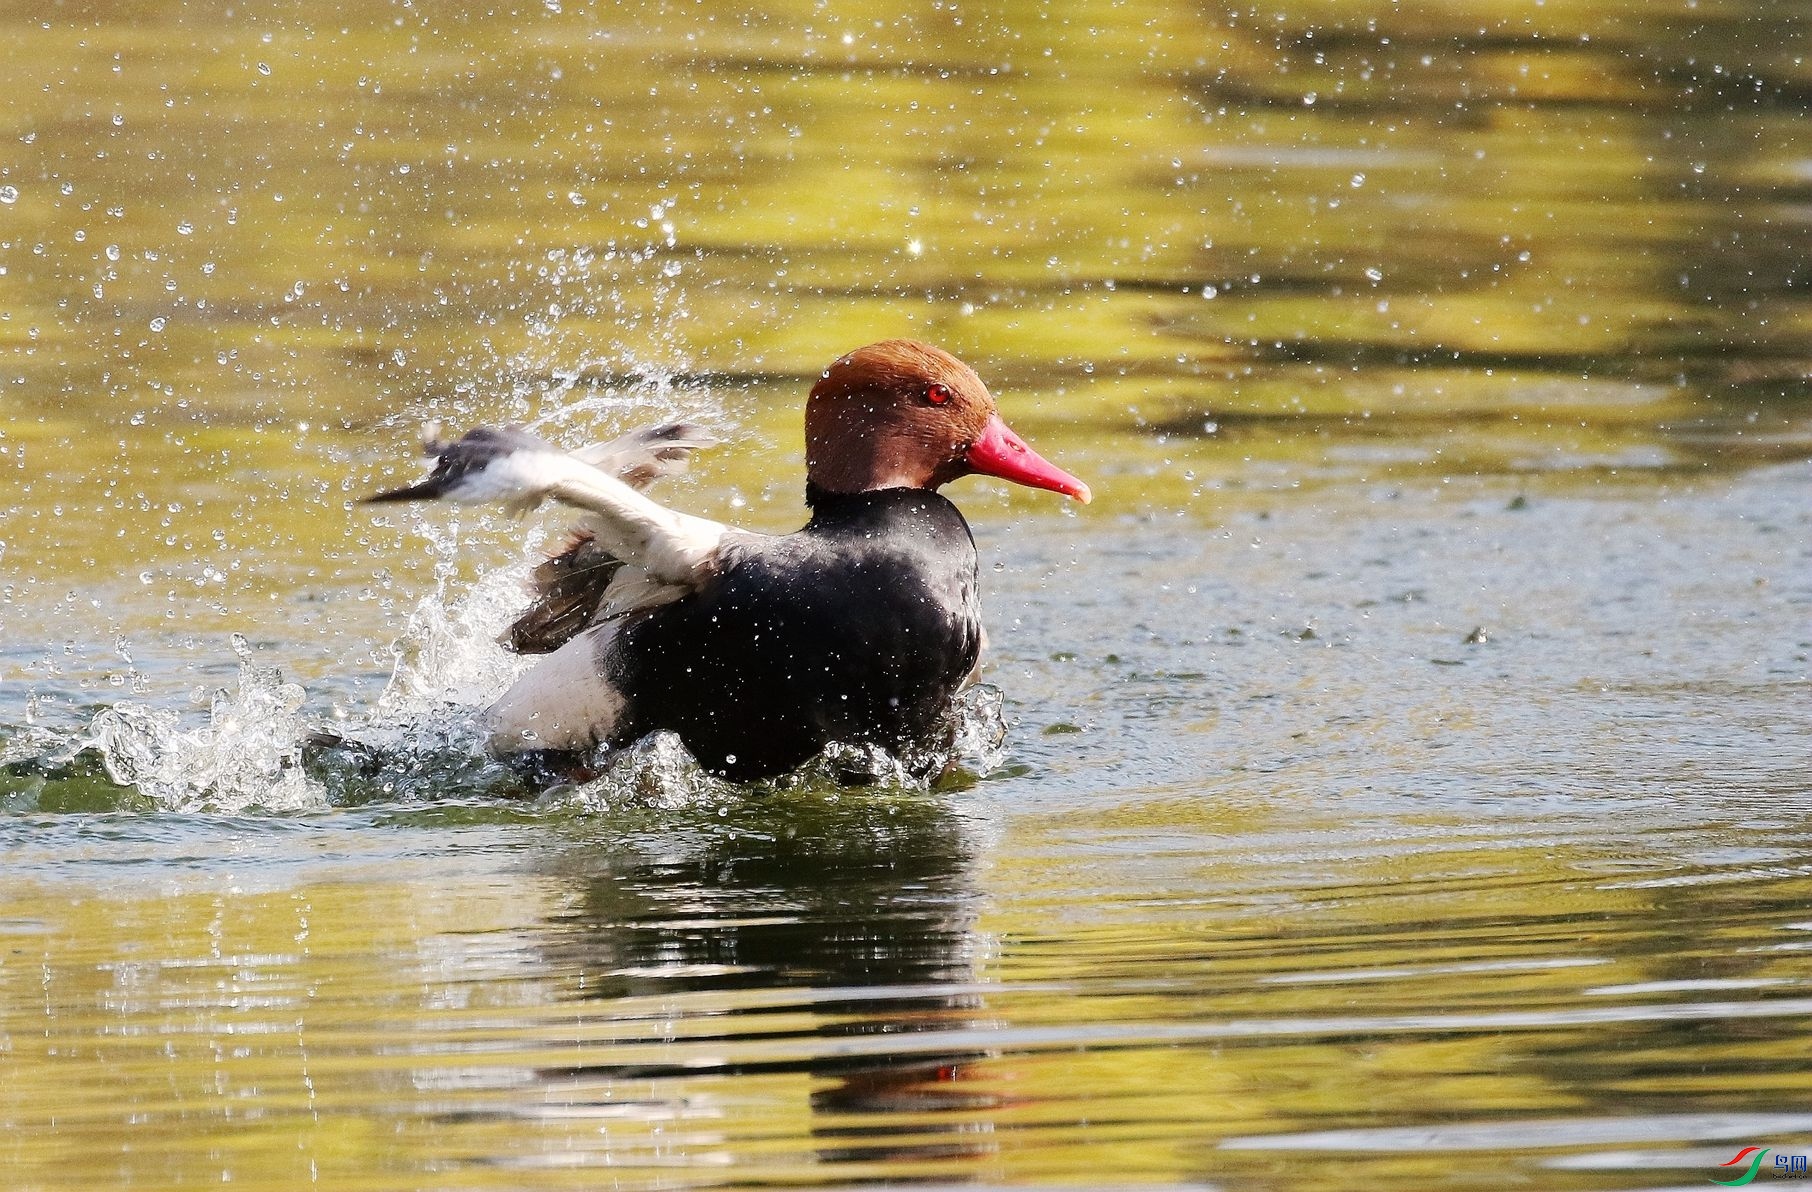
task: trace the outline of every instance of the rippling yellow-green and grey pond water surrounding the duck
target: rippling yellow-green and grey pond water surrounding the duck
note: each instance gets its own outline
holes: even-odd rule
[[[1774,1179],[1808,25],[0,7],[0,1183]],[[886,335],[1096,491],[949,489],[998,764],[484,766],[556,522],[357,505],[422,424],[788,529]]]

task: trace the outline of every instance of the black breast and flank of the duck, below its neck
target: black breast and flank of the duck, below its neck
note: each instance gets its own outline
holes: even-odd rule
[[[736,779],[834,741],[899,750],[937,730],[980,656],[975,540],[922,489],[814,493],[795,534],[730,551],[699,592],[638,614],[605,676],[627,699],[611,745],[678,732]]]

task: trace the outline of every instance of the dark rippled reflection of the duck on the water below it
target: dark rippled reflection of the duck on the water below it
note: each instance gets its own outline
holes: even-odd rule
[[[549,924],[547,964],[583,973],[582,996],[603,1014],[616,1005],[645,1020],[651,1000],[672,1002],[636,1034],[661,1040],[660,1060],[593,1045],[571,1067],[538,1071],[553,1112],[622,1118],[625,1096],[652,1094],[641,1110],[685,1120],[710,1091],[754,1114],[752,1134],[772,1136],[763,1123],[799,1125],[794,1074],[812,1089],[819,1145],[806,1161],[922,1165],[995,1150],[988,1110],[1000,1098],[971,1083],[988,1054],[973,1034],[997,1025],[975,987],[973,850],[946,797],[779,795],[685,824],[669,813],[554,864],[582,897]],[[926,1047],[928,1034],[951,1034],[951,1049]],[[747,1110],[750,1096],[786,1103]],[[712,1129],[707,1149],[736,1161],[734,1123],[719,1114]]]

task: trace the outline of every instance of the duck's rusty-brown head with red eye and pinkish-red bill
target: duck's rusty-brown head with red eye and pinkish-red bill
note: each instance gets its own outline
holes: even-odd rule
[[[1007,429],[973,368],[911,339],[824,370],[805,406],[805,462],[828,493],[935,489],[978,473],[1089,502],[1089,485]]]

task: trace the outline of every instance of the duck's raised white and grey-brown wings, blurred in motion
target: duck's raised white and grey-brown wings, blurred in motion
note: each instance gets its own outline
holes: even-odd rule
[[[694,424],[670,422],[565,453],[520,428],[477,428],[453,442],[429,437],[433,473],[366,500],[502,502],[513,513],[554,500],[585,511],[565,545],[535,569],[535,605],[504,636],[518,654],[545,654],[600,610],[676,600],[716,574],[725,540],[743,531],[640,493],[716,442]]]

